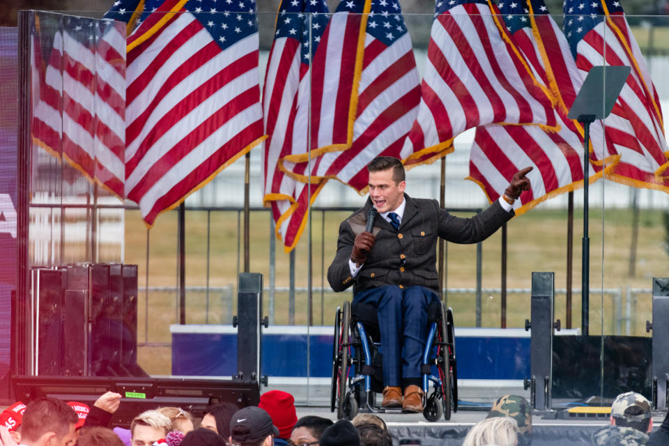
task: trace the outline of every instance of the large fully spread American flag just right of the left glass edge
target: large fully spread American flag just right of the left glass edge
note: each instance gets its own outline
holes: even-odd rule
[[[125,192],[148,226],[263,140],[255,10],[254,0],[165,0],[132,15]]]

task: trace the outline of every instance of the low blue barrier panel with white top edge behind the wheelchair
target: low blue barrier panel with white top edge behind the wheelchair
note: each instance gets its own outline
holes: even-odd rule
[[[231,325],[171,325],[172,374],[236,374],[237,330]],[[327,378],[332,373],[334,328],[281,325],[263,330],[261,367],[268,376]],[[458,376],[512,379],[530,376],[530,333],[518,328],[456,328]]]

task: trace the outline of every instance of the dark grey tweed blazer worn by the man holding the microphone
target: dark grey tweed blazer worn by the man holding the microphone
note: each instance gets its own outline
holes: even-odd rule
[[[334,291],[353,285],[353,293],[385,285],[425,286],[440,294],[436,268],[437,238],[454,243],[478,243],[514,216],[498,201],[471,218],[455,217],[432,199],[412,199],[404,194],[406,206],[399,229],[383,217],[374,220],[374,248],[356,277],[351,275],[355,236],[364,231],[371,200],[339,225],[337,254],[328,268],[328,282]]]

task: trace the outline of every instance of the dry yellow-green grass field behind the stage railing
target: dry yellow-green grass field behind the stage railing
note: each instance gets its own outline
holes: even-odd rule
[[[312,217],[312,286],[324,291],[315,291],[312,305],[307,293],[295,293],[295,323],[308,322],[309,309],[313,323],[331,325],[334,309],[351,294],[332,293],[323,280],[336,245],[337,227],[346,217],[346,212],[330,212],[325,215],[314,213]],[[574,215],[574,289],[580,289],[581,238],[583,220],[577,210]],[[590,210],[590,331],[613,334],[624,316],[620,308],[625,307],[626,289],[652,286],[652,277],[663,277],[669,270],[669,256],[664,247],[665,230],[662,213],[658,210],[642,210],[639,215],[638,244],[635,274],[629,276],[630,247],[633,215],[629,209]],[[139,284],[146,285],[146,228],[134,211],[126,215],[125,261],[139,264]],[[209,306],[207,311],[206,291],[189,291],[187,300],[187,323],[229,323],[236,307],[236,277],[243,257],[238,252],[238,214],[233,212],[211,213],[210,231],[207,231],[206,212],[189,211],[186,215],[186,285],[206,286],[209,269]],[[176,212],[158,219],[150,231],[148,261],[148,286],[176,287],[177,243]],[[250,270],[261,272],[266,287],[269,286],[270,266],[270,220],[266,212],[251,214]],[[207,240],[209,238],[210,260],[207,266]],[[295,249],[295,286],[305,288],[308,284],[308,245],[305,230],[300,244]],[[554,271],[556,289],[566,286],[566,210],[535,209],[514,218],[508,224],[508,289],[529,289],[532,271]],[[321,249],[323,245],[323,249]],[[447,288],[474,289],[476,286],[475,245],[448,245]],[[482,287],[498,289],[501,284],[500,253],[501,231],[495,233],[482,245]],[[323,260],[321,260],[323,259]],[[277,289],[289,286],[289,254],[285,254],[277,240],[276,279]],[[214,289],[215,288],[215,289]],[[597,293],[595,289],[615,289],[622,298],[619,302],[614,295]],[[264,312],[269,312],[269,296],[264,294]],[[174,290],[152,291],[139,295],[139,341],[151,343],[169,342],[169,324],[177,321],[178,298]],[[475,326],[475,296],[473,293],[450,293],[447,303],[453,307],[456,326]],[[619,307],[620,306],[620,307]],[[145,318],[148,308],[148,319]],[[566,300],[564,294],[557,295],[556,318],[565,327]],[[651,318],[650,293],[642,293],[631,301],[631,334],[647,335],[645,321]],[[287,291],[277,291],[275,295],[275,324],[289,323],[289,295]],[[482,326],[500,326],[500,293],[488,292],[482,295]],[[522,327],[525,318],[530,318],[530,294],[509,292],[507,296],[507,327]],[[572,326],[580,327],[580,293],[574,293]],[[621,325],[626,326],[624,323]],[[148,332],[147,332],[148,328]],[[153,374],[167,374],[170,369],[170,355],[167,347],[142,347],[141,363]]]

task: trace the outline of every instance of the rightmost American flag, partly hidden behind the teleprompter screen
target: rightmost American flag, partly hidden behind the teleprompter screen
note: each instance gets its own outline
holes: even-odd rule
[[[604,120],[608,151],[620,158],[607,178],[669,192],[664,173],[669,167],[668,148],[658,96],[620,2],[567,0],[564,15],[564,33],[584,77],[593,66],[632,68]]]

